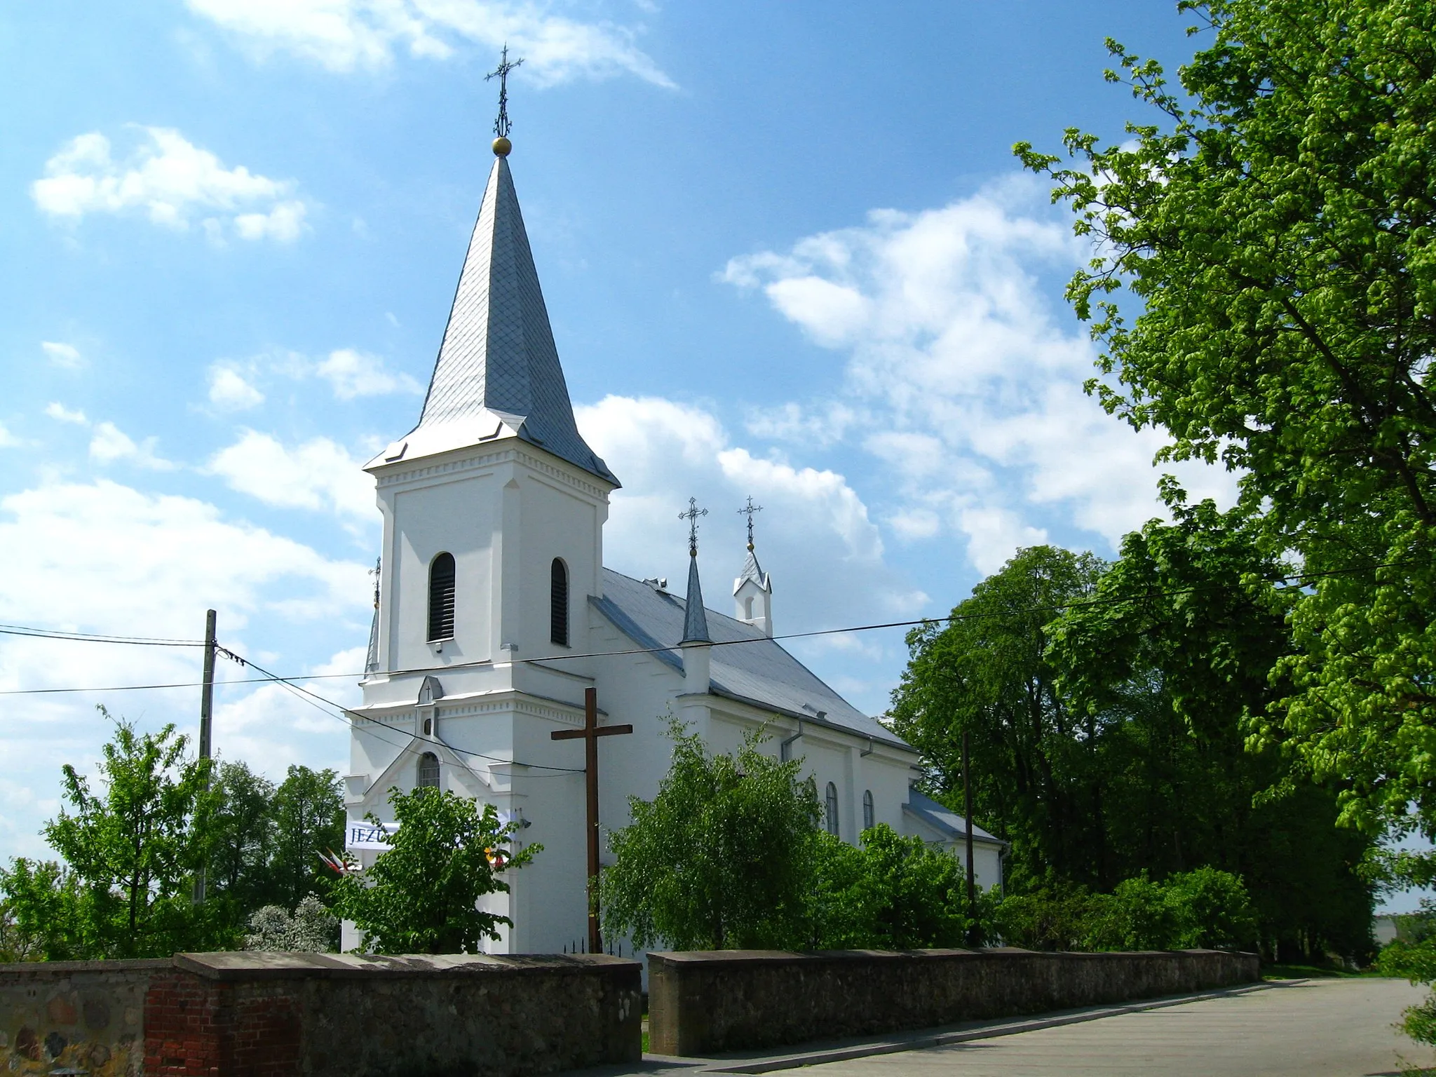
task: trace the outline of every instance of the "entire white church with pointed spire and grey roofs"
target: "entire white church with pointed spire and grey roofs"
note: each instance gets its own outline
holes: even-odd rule
[[[633,727],[597,741],[605,830],[629,821],[630,796],[658,791],[673,715],[715,752],[767,725],[765,748],[803,760],[846,841],[887,823],[961,857],[964,820],[910,788],[918,752],[773,639],[773,583],[751,544],[742,561],[734,551],[731,615],[704,607],[696,556],[682,592],[603,566],[619,480],[574,424],[507,149],[495,142],[419,422],[365,468],[383,547],[350,717],[349,833],[391,817],[393,787],[494,804],[543,852],[491,898],[513,928],[490,949],[582,946],[586,745],[550,734],[583,728],[593,688],[600,725]],[[981,829],[974,841],[979,885],[998,885],[1002,843]],[[372,864],[366,844],[352,847]],[[346,925],[345,949],[358,942]]]

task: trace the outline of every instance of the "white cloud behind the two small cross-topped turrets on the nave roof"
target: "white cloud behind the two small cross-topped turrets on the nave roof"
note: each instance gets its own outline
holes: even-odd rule
[[[584,439],[623,482],[603,528],[610,567],[666,576],[681,589],[688,550],[678,513],[696,497],[709,510],[699,524],[704,597],[709,607],[731,612],[732,582],[747,557],[737,510],[751,494],[763,505],[757,550],[773,574],[780,633],[913,616],[926,603],[926,595],[887,566],[879,528],[841,474],[755,455],[732,444],[712,414],[689,404],[606,396],[574,414]],[[817,662],[852,651],[843,668],[854,702],[877,711],[902,648],[899,639],[827,636],[797,640],[796,649]]]

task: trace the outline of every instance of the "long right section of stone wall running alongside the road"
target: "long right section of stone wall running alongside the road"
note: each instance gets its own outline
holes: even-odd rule
[[[1159,998],[1259,979],[1255,954],[649,954],[649,1045],[711,1055]]]

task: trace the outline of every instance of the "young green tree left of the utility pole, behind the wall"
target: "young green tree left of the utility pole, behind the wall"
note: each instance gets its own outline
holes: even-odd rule
[[[65,869],[19,859],[0,887],[17,922],[42,931],[55,955],[165,956],[213,945],[224,925],[192,905],[194,873],[210,853],[210,764],[185,757],[188,741],[174,725],[139,734],[123,718],[113,721],[101,793],[63,768],[70,810],[43,833]]]

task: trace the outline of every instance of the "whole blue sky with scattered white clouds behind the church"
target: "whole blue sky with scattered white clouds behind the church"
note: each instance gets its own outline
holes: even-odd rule
[[[1172,4],[151,0],[0,16],[0,620],[362,666],[359,470],[416,419],[481,185],[510,158],[579,424],[625,488],[610,567],[678,577],[689,495],[722,609],[747,495],[778,632],[946,612],[1022,544],[1110,554],[1159,441],[1080,392],[1083,257],[1015,141],[1120,138],[1113,36]],[[1186,471],[1226,498],[1228,475]],[[900,632],[794,651],[880,712]],[[0,642],[0,689],[192,681],[192,651]],[[244,676],[225,666],[227,678]],[[353,681],[314,682],[355,701]],[[192,728],[192,688],[0,696],[0,854],[59,767]],[[218,751],[345,770],[340,721],[218,692]]]

